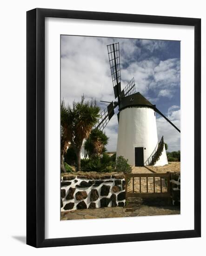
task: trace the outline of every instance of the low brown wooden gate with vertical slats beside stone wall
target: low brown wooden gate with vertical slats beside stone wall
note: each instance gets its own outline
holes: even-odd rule
[[[159,184],[157,186],[157,180]],[[135,184],[135,179],[138,180],[139,188]],[[142,180],[146,179],[146,189],[142,189]],[[150,184],[148,180],[150,179]],[[171,197],[170,180],[171,174],[168,173],[138,173],[138,174],[125,174],[126,180],[126,199],[127,197]],[[151,182],[152,180],[152,182]],[[164,188],[163,188],[164,180]],[[129,185],[128,185],[129,183]],[[157,191],[158,190],[158,191]],[[164,190],[164,191],[163,191]],[[166,191],[165,191],[166,190]]]

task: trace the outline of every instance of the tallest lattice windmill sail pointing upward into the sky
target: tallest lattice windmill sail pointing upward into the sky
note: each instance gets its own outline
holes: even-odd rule
[[[119,43],[107,45],[115,99],[121,92],[120,47]]]

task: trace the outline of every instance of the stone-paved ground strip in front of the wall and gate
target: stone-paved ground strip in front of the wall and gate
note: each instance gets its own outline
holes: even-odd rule
[[[133,206],[129,207],[108,207],[98,209],[74,210],[61,213],[61,220],[80,220],[80,219],[99,219],[99,218],[118,218],[134,216],[159,216],[180,214],[174,206]]]

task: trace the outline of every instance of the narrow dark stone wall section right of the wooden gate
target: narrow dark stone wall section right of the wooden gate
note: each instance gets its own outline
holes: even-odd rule
[[[180,205],[180,173],[171,174],[171,196],[173,205]]]

